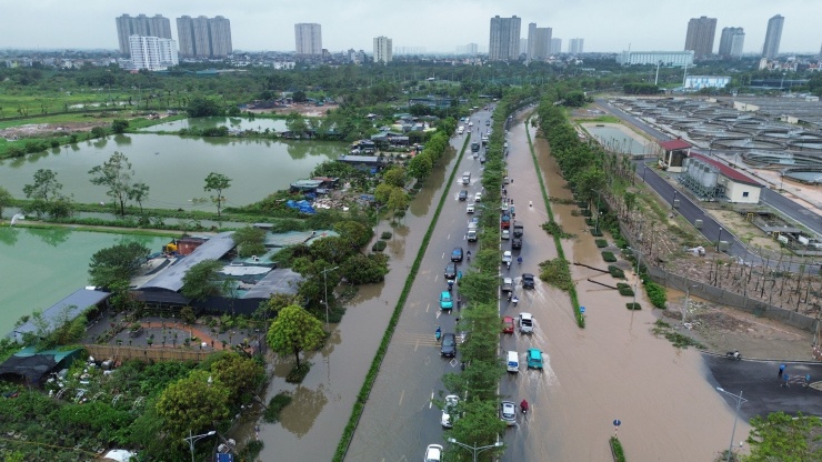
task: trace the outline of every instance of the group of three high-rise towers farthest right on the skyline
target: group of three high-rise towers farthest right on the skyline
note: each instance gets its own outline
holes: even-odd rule
[[[762,47],[762,57],[773,59],[779,54],[779,43],[782,40],[782,24],[784,18],[774,16],[768,21],[765,43]],[[713,39],[716,36],[716,18],[692,18],[688,21],[685,50],[693,51],[694,59],[704,59],[713,54]],[[742,28],[723,28],[720,36],[719,56],[723,58],[740,58],[745,41],[745,31]]]

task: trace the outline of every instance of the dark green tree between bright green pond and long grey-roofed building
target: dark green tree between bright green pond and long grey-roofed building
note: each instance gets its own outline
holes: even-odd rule
[[[91,255],[89,282],[101,288],[128,284],[132,275],[146,262],[151,250],[138,242],[116,244],[100,249]]]

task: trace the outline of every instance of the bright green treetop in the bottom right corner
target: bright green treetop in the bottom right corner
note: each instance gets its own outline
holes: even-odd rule
[[[748,444],[751,454],[743,458],[748,462],[804,462],[822,460],[822,446],[819,444],[822,420],[815,415],[803,415],[795,419],[782,411],[772,412],[766,418],[756,415],[751,419],[751,434]]]

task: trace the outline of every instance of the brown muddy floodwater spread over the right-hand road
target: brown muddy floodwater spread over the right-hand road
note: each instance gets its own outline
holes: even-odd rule
[[[544,140],[534,141],[549,194],[570,198]],[[578,234],[563,241],[567,259],[607,269],[584,218],[571,214],[573,205],[554,203],[552,210],[563,230]],[[543,248],[549,243],[553,247],[547,240]],[[573,264],[571,271],[587,327],[577,328],[567,293],[539,287],[533,297],[543,300],[531,310],[540,332],[531,341],[545,351],[547,368],[542,376],[520,382],[519,392],[533,396],[533,411],[510,451],[528,460],[610,461],[608,439],[619,419],[619,438],[631,461],[712,461],[728,448],[734,414],[714,390],[699,352],[678,350],[651,333],[656,315],[644,293],[636,300],[642,310],[632,312],[625,309],[632,298],[588,281],[615,285],[610,274]],[[740,420],[736,442],[749,431]]]

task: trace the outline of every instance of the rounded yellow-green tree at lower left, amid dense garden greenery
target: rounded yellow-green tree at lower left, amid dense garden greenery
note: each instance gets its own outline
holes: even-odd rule
[[[191,373],[169,385],[157,400],[157,414],[173,439],[189,432],[212,430],[217,422],[229,416],[230,390],[208,371]]]

